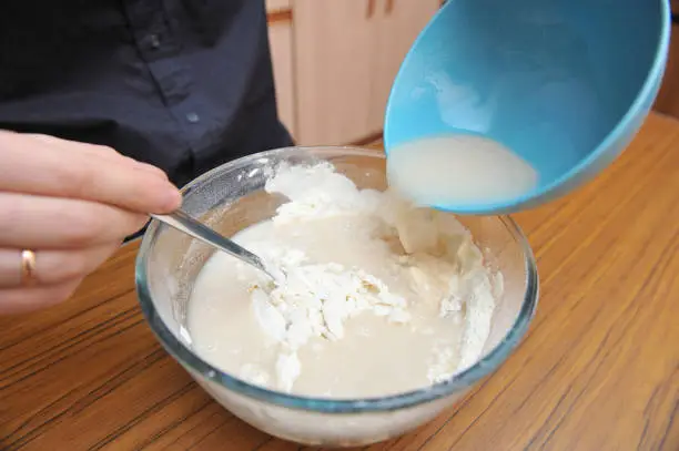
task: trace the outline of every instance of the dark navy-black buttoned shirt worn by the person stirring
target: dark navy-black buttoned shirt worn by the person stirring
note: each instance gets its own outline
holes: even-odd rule
[[[183,185],[291,144],[263,0],[4,0],[0,127],[105,144]]]

